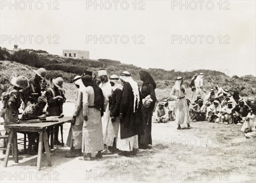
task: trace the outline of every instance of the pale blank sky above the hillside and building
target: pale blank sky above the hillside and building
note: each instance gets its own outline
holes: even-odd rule
[[[62,49],[82,49],[90,51],[91,59],[107,58],[121,61],[125,64],[134,64],[138,67],[161,68],[165,70],[197,70],[211,69],[224,71],[228,76],[244,76],[252,74],[256,76],[256,1],[255,0],[230,0],[222,1],[221,10],[219,0],[212,1],[211,4],[204,1],[202,10],[200,3],[194,1],[182,1],[188,3],[188,10],[180,4],[174,6],[179,1],[168,0],[144,0],[136,2],[134,10],[134,0],[128,1],[128,9],[125,3],[117,1],[115,3],[105,3],[102,1],[102,10],[96,6],[95,1],[75,1],[63,0],[51,2],[43,1],[41,4],[33,1],[31,10],[29,3],[17,3],[9,7],[9,0],[1,0],[0,9],[0,35],[1,47],[12,49],[15,40],[9,43],[9,35],[15,39],[22,49],[42,49],[55,55],[62,55]],[[101,1],[97,1],[99,4]],[[227,3],[229,2],[229,3]],[[7,4],[6,4],[7,3]],[[15,4],[15,1],[12,1]],[[87,6],[93,3],[93,6]],[[111,4],[110,10],[108,8]],[[105,5],[105,6],[104,6]],[[173,6],[172,6],[173,5]],[[53,10],[56,6],[58,10]],[[144,10],[138,10],[139,7]],[[38,9],[36,9],[36,7]],[[229,10],[224,10],[224,7]],[[123,9],[122,9],[123,8]],[[207,9],[208,8],[208,9]],[[24,9],[24,10],[22,10]],[[25,35],[26,41],[23,40]],[[29,37],[33,35],[32,43]],[[35,41],[35,36],[44,38],[41,44]],[[49,36],[51,42],[49,44]],[[53,38],[54,35],[58,37]],[[87,40],[88,35],[102,39],[102,44],[97,41]],[[106,36],[107,35],[107,36]],[[108,35],[112,38],[110,44]],[[115,37],[117,43],[115,44]],[[120,37],[125,35],[129,38],[127,44],[121,42]],[[136,44],[134,44],[136,35]],[[141,37],[139,37],[142,35]],[[173,41],[175,35],[186,38],[186,40]],[[200,37],[202,35],[202,44]],[[209,36],[208,36],[209,35]],[[221,35],[221,44],[219,43]],[[226,37],[224,37],[227,35]],[[7,37],[6,37],[7,36]],[[206,37],[208,36],[208,43]],[[20,37],[20,40],[18,39]],[[126,41],[123,37],[123,41]],[[189,40],[190,37],[190,40]],[[209,44],[211,37],[214,38]],[[58,39],[59,44],[52,44]],[[142,38],[145,44],[138,44]],[[197,41],[195,44],[192,42]],[[226,41],[230,44],[223,44]],[[7,39],[7,40],[6,40]],[[38,42],[40,42],[40,37]],[[22,44],[24,42],[24,44]],[[87,43],[88,42],[88,43]],[[230,70],[228,72],[227,70]]]

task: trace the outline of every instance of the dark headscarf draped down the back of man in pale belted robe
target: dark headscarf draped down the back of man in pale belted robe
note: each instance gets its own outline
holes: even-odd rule
[[[91,86],[94,91],[94,107],[100,110],[101,115],[104,113],[104,96],[102,93],[102,89],[93,82],[92,77],[89,75],[84,75],[82,77],[82,81],[85,87]]]

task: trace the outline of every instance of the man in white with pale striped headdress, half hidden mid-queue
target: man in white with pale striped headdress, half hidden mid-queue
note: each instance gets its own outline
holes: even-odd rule
[[[98,76],[100,78],[101,83],[99,84],[99,87],[102,89],[102,92],[108,96],[108,99],[111,99],[111,93],[112,93],[112,87],[110,84],[110,81],[108,80],[107,71],[105,69],[100,69],[98,71]],[[104,112],[104,115],[102,116],[102,131],[103,131],[103,139],[107,138],[108,135],[108,120],[109,120],[109,104],[106,107],[106,110]],[[105,140],[104,140],[105,142]],[[108,146],[104,144],[104,151],[102,154],[111,154],[111,152],[108,150]]]

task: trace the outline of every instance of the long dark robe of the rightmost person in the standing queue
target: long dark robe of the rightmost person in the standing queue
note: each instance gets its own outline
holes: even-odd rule
[[[143,84],[141,90],[142,98],[145,99],[146,96],[150,95],[153,102],[151,102],[148,108],[142,106],[142,116],[143,123],[141,125],[141,134],[139,135],[139,146],[140,145],[152,145],[151,137],[151,124],[152,124],[152,114],[154,110],[155,102],[157,101],[154,87],[152,84]]]

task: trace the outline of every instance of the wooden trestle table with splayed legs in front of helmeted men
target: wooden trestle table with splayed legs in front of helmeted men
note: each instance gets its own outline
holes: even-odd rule
[[[47,117],[47,120],[58,120],[58,122],[43,122],[39,119],[35,120],[28,120],[25,123],[21,122],[20,124],[13,124],[13,125],[6,125],[6,128],[9,128],[10,134],[8,138],[8,145],[6,149],[6,156],[4,158],[3,166],[6,167],[8,163],[8,158],[10,154],[10,147],[12,146],[13,142],[13,149],[14,151],[14,160],[15,163],[18,163],[18,148],[17,148],[17,131],[20,132],[38,132],[39,133],[39,144],[38,144],[38,159],[37,159],[37,169],[41,169],[41,157],[42,157],[42,150],[43,150],[43,143],[45,148],[45,153],[47,157],[47,164],[48,166],[52,166],[49,146],[48,146],[48,135],[46,128],[53,127],[55,125],[60,125],[65,122],[70,122],[72,117]],[[31,122],[31,123],[29,123]],[[51,138],[52,141],[52,138]]]

